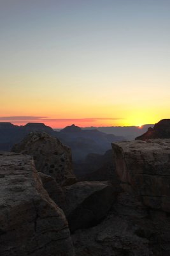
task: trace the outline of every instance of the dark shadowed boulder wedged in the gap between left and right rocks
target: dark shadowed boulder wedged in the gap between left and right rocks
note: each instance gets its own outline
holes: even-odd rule
[[[115,188],[109,182],[78,182],[64,188],[66,214],[71,232],[96,225],[108,213],[115,200]]]

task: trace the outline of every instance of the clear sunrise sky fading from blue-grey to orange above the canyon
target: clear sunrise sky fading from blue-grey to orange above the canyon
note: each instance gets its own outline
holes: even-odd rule
[[[0,0],[0,122],[170,118],[169,0]]]

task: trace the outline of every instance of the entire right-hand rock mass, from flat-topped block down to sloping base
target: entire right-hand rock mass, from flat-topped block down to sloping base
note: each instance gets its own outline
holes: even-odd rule
[[[170,255],[170,141],[113,144],[123,190],[106,218],[72,235],[76,256]]]

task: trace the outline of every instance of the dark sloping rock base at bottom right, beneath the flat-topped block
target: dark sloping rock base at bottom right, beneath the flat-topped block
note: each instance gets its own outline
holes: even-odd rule
[[[72,235],[76,256],[167,256],[169,223],[165,212],[149,211],[122,192],[101,223]]]

